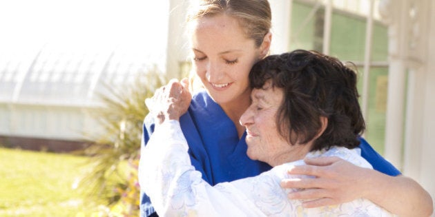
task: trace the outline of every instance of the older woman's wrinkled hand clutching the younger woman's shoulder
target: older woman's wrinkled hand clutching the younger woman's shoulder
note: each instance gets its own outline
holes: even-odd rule
[[[156,123],[161,124],[165,120],[179,120],[180,116],[187,112],[191,100],[189,81],[183,79],[179,82],[172,79],[167,85],[156,90],[151,99],[146,99],[145,104],[156,118]]]

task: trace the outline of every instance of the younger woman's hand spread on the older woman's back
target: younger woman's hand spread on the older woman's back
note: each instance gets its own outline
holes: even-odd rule
[[[358,167],[338,157],[305,158],[307,165],[289,169],[289,174],[314,176],[315,178],[289,178],[281,187],[303,189],[289,193],[290,199],[305,200],[307,208],[338,205],[365,196],[369,185],[367,168]],[[367,180],[367,181],[366,181]]]

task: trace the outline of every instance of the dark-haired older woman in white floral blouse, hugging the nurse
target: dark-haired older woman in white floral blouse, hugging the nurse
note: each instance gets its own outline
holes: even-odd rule
[[[179,83],[169,90],[171,103],[155,116],[160,125],[142,152],[141,187],[161,216],[334,216],[391,214],[360,198],[338,206],[304,209],[289,200],[280,180],[305,156],[338,156],[371,167],[359,154],[358,135],[365,122],[358,104],[356,74],[338,59],[296,50],[268,56],[250,74],[251,105],[240,118],[247,130],[247,155],[273,166],[259,176],[212,187],[191,165],[188,145],[177,120],[190,94]],[[169,106],[168,106],[169,105]],[[160,107],[158,111],[162,111]],[[219,132],[216,132],[218,134]],[[165,141],[162,144],[159,141]],[[298,191],[298,189],[293,189]]]

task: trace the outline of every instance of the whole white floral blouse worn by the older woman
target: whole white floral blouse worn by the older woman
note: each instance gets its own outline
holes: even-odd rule
[[[360,198],[341,205],[304,209],[289,200],[280,181],[287,169],[303,161],[285,163],[268,172],[230,183],[209,185],[191,165],[189,147],[178,121],[156,128],[142,149],[139,180],[160,216],[392,216],[371,201]],[[338,156],[360,167],[370,167],[358,149],[333,147],[307,156]],[[292,176],[293,178],[295,176]],[[296,191],[296,189],[293,189]]]

